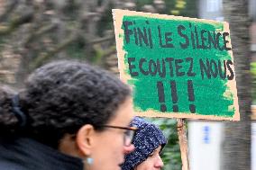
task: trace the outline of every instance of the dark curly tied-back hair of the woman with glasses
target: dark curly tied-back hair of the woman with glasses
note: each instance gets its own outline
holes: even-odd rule
[[[75,134],[85,124],[101,130],[97,125],[114,119],[130,94],[127,85],[99,67],[55,61],[36,69],[19,93],[25,127],[12,112],[14,92],[0,89],[0,133],[28,136],[56,148],[64,134]]]

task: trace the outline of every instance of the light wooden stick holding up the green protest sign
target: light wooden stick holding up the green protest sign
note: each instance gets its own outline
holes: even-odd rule
[[[180,147],[182,170],[189,170],[187,129],[184,119],[177,119],[178,141]]]

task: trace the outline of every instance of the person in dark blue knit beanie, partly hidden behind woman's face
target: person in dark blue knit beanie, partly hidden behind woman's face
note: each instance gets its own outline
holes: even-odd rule
[[[154,170],[161,169],[163,162],[160,152],[167,143],[162,131],[154,124],[134,117],[131,126],[138,130],[133,137],[135,149],[125,156],[122,170]]]

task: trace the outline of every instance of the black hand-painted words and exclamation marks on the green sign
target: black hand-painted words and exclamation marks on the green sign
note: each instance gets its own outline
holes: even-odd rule
[[[140,25],[140,24],[139,24]],[[123,32],[125,44],[134,44],[139,48],[160,48],[160,49],[204,49],[204,50],[217,50],[217,51],[229,51],[231,50],[230,35],[226,31],[208,31],[200,29],[197,25],[188,23],[187,25],[178,24],[175,28],[167,31],[161,28],[161,25],[153,25],[155,29],[152,29],[152,25],[149,21],[145,21],[143,26],[136,25],[134,21],[123,21]],[[154,30],[155,32],[153,32]],[[175,36],[178,37],[178,41],[175,40]],[[153,40],[153,36],[157,37],[157,40]],[[129,72],[132,77],[137,76],[159,76],[161,78],[171,77],[169,81],[171,99],[172,99],[172,111],[178,112],[178,94],[176,77],[187,76],[187,99],[188,102],[195,101],[193,78],[194,76],[200,76],[202,80],[206,79],[223,79],[233,80],[233,61],[231,59],[220,58],[198,58],[189,56],[187,58],[173,58],[167,56],[161,56],[160,58],[147,58],[147,56],[141,56],[136,58],[129,56],[127,63]],[[197,66],[199,69],[195,70]],[[191,79],[189,79],[191,77]],[[160,111],[166,112],[164,85],[162,81],[156,82],[156,87],[159,95]],[[189,104],[190,112],[196,112],[196,106]]]

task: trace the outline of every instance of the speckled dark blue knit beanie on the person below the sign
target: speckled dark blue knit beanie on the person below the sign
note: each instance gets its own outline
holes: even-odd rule
[[[131,123],[138,130],[133,138],[134,151],[125,156],[122,170],[133,170],[146,160],[151,153],[161,146],[161,149],[167,143],[167,139],[162,131],[154,124],[135,117]]]

